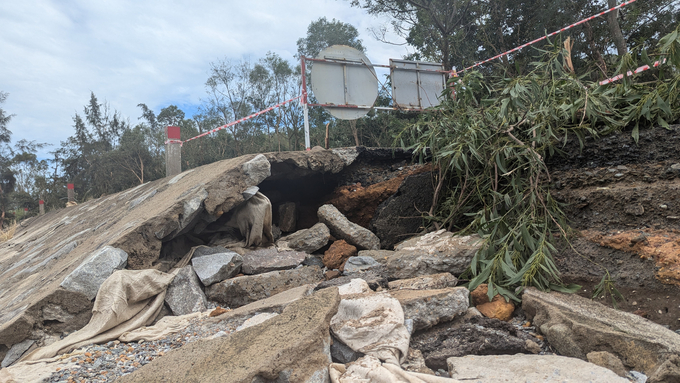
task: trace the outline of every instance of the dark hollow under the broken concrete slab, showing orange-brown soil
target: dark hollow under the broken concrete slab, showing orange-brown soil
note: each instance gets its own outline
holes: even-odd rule
[[[410,154],[393,155],[388,151],[382,157],[368,154],[362,158],[360,155],[336,174],[312,171],[286,162],[272,163],[271,176],[258,187],[272,204],[273,225],[283,229],[274,229],[275,239],[312,227],[318,222],[318,208],[325,203],[333,203],[350,221],[368,228],[378,205],[394,195],[406,177],[430,169],[428,165],[409,164]],[[423,195],[425,203],[431,203],[431,198],[427,193]],[[412,201],[409,204],[412,205]],[[285,213],[280,208],[284,205],[294,206],[294,226],[282,223]],[[169,270],[194,246],[221,246],[242,240],[238,229],[227,226],[231,214],[225,213],[217,220],[206,214],[203,220],[195,220],[194,227],[185,230],[185,234],[163,243],[154,267]],[[416,218],[419,224],[421,220]],[[203,223],[199,223],[201,221]]]

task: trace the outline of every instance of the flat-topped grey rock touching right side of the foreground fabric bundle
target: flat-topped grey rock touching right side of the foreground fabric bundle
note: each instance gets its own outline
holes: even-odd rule
[[[413,319],[414,330],[423,330],[453,320],[469,307],[470,292],[465,287],[439,290],[393,290],[389,292],[404,309],[404,318]]]

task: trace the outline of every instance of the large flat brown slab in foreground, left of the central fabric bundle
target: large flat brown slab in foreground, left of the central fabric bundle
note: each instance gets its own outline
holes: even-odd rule
[[[291,303],[231,336],[189,343],[122,377],[126,382],[328,382],[337,289]]]

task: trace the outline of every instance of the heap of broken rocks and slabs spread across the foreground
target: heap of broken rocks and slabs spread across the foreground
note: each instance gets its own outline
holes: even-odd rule
[[[246,175],[262,178],[258,163]],[[20,358],[37,345],[17,342],[0,350],[0,382],[680,380],[680,335],[644,318],[535,289],[516,307],[457,286],[478,236],[439,230],[381,250],[331,204],[301,230],[296,203],[277,207],[285,235],[271,246],[233,246],[224,233],[221,245],[189,246],[153,325],[30,364]],[[86,282],[128,262],[116,250],[93,253],[69,286],[94,297],[101,282]],[[41,315],[73,316],[55,307]]]

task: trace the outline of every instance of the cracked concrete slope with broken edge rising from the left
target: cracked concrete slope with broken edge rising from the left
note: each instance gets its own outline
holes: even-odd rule
[[[216,220],[243,202],[248,187],[337,173],[352,155],[323,149],[246,155],[24,221],[0,244],[0,356],[26,338],[43,343],[87,323],[91,300],[61,285],[105,246],[127,253],[128,269],[149,268],[163,242]]]

